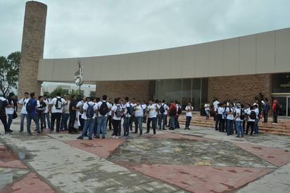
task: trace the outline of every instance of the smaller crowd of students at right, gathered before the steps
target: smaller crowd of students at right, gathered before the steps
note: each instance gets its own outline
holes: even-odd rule
[[[244,137],[259,133],[258,123],[260,118],[263,118],[263,123],[268,121],[268,113],[270,111],[270,104],[267,99],[260,101],[263,105],[259,108],[259,101],[256,100],[253,105],[241,104],[240,102],[232,102],[230,100],[220,103],[218,99],[213,102],[213,113],[215,120],[215,130],[219,132],[227,132],[227,135],[237,134],[236,137]],[[205,105],[208,108],[208,103]],[[279,104],[275,99],[272,104],[273,124],[277,124],[277,112],[279,111]],[[207,118],[208,118],[208,113]]]

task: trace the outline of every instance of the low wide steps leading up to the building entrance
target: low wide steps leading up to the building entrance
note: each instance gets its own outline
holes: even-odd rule
[[[179,115],[178,120],[179,124],[185,125],[185,113]],[[215,128],[215,121],[213,121],[213,117],[210,117],[209,120],[206,120],[205,116],[201,116],[199,112],[194,112],[191,119],[191,125]],[[277,125],[272,124],[272,118],[268,118],[268,123],[263,123],[263,119],[261,119],[259,122],[259,131],[275,135],[290,136],[290,119],[278,118]]]

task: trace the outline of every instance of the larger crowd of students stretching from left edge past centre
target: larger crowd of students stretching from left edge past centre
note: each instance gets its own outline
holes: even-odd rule
[[[11,107],[13,113],[15,105],[8,106],[11,105],[10,100],[2,98],[5,101],[3,109],[6,108],[7,111]],[[169,130],[175,130],[179,128],[178,117],[182,111],[178,101],[166,104],[165,100],[149,100],[146,103],[134,98],[129,99],[129,97],[125,97],[124,100],[109,98],[107,101],[106,95],[100,99],[98,97],[70,96],[70,94],[61,97],[61,93],[57,93],[56,97],[49,99],[46,94],[37,97],[34,92],[30,94],[25,92],[18,104],[22,106],[19,132],[24,132],[26,118],[27,135],[32,135],[30,127],[33,121],[36,125],[34,131],[37,135],[40,135],[44,128],[49,129],[50,132],[65,130],[68,130],[68,133],[81,132],[77,139],[84,139],[84,137],[88,137],[88,139],[106,138],[107,125],[109,130],[113,130],[114,138],[121,136],[122,129],[122,137],[128,137],[130,132],[143,135],[143,123],[146,123],[145,133],[150,133],[152,128],[153,135],[156,135],[156,129],[166,130],[165,127],[169,127]],[[193,110],[194,108],[190,103],[185,108],[187,118],[184,129],[186,130],[190,130],[189,125]],[[6,116],[6,113],[3,114]],[[12,123],[12,118],[10,119],[9,115],[10,113],[8,114],[9,124],[5,124],[4,121],[7,135],[12,132],[9,130]]]

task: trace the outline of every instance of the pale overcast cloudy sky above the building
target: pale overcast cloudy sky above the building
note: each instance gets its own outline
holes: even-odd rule
[[[39,0],[44,58],[165,49],[290,27],[289,0]],[[21,50],[24,0],[0,0],[0,56]]]

